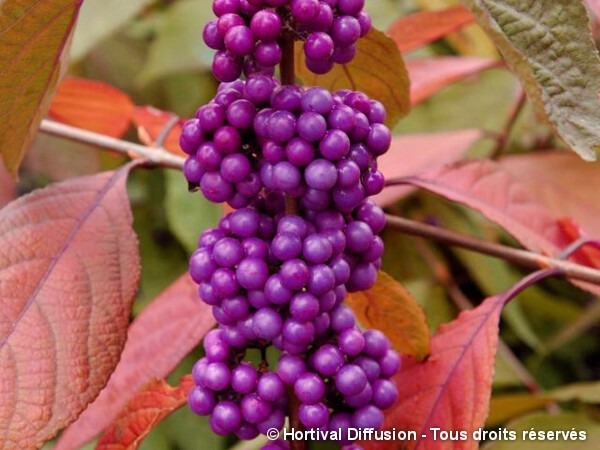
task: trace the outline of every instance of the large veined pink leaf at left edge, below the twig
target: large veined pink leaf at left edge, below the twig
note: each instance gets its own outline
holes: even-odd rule
[[[40,446],[106,385],[127,336],[139,254],[117,172],[0,211],[0,448]]]

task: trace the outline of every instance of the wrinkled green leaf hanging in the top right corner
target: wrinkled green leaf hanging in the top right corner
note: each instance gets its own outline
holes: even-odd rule
[[[463,0],[537,111],[587,160],[600,149],[600,58],[581,1]]]

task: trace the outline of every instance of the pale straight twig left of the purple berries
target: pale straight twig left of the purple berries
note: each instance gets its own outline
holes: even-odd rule
[[[183,163],[185,162],[185,158],[170,153],[162,147],[148,147],[135,144],[133,142],[127,142],[103,134],[94,133],[93,131],[83,130],[71,125],[58,123],[53,120],[42,120],[40,131],[52,136],[112,150],[127,155],[130,158],[141,157],[152,164],[162,167],[181,170],[183,168]]]

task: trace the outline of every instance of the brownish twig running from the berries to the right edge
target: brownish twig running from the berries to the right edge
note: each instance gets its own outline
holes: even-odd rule
[[[600,271],[581,264],[563,261],[557,258],[540,255],[539,253],[496,244],[494,242],[487,242],[402,217],[387,215],[387,224],[388,226],[407,234],[495,256],[530,269],[558,268],[564,272],[565,277],[567,278],[600,285]]]

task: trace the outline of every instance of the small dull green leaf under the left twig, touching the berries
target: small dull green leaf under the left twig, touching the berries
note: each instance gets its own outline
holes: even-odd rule
[[[165,208],[169,228],[184,247],[193,252],[198,247],[200,233],[217,225],[221,207],[199,194],[190,194],[180,172],[170,170],[165,177]]]

